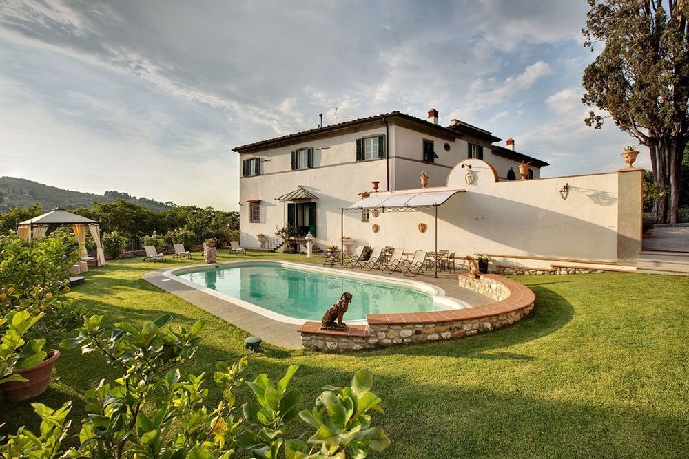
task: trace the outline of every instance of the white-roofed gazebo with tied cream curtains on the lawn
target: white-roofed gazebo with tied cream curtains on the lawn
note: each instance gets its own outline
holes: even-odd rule
[[[38,217],[34,217],[25,222],[17,224],[17,235],[25,241],[30,241],[34,237],[43,237],[48,231],[48,225],[72,226],[76,241],[79,242],[79,250],[81,257],[87,257],[86,252],[86,231],[88,227],[91,237],[96,243],[96,260],[98,266],[105,265],[105,255],[103,255],[103,247],[101,247],[101,225],[96,220],[82,217],[74,213],[63,210],[60,206]]]

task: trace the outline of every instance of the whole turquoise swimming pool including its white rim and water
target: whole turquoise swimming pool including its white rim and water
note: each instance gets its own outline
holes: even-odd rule
[[[445,298],[440,288],[423,282],[285,261],[239,261],[165,274],[289,323],[320,321],[342,292],[353,295],[345,316],[348,323],[365,323],[366,314],[432,312],[467,306]]]

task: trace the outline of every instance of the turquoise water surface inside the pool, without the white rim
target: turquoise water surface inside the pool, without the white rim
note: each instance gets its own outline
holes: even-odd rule
[[[176,274],[194,284],[253,303],[287,317],[320,321],[342,292],[353,295],[346,321],[366,314],[439,310],[428,292],[376,279],[316,273],[277,264],[251,264],[187,270]]]

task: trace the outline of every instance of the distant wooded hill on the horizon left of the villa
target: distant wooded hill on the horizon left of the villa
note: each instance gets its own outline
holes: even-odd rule
[[[136,196],[130,196],[129,193],[121,193],[120,191],[105,191],[102,195],[95,195],[81,191],[63,190],[55,186],[32,182],[25,178],[0,177],[0,213],[10,207],[26,207],[37,202],[41,204],[44,210],[54,209],[58,204],[63,209],[75,209],[76,207],[89,207],[93,202],[112,202],[115,198],[134,202],[152,211],[169,209],[169,205],[165,202],[136,198]]]

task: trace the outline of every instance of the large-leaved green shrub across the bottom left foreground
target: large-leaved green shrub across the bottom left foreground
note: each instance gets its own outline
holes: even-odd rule
[[[41,417],[40,436],[21,427],[0,450],[10,457],[85,458],[230,458],[246,449],[254,458],[366,458],[389,440],[371,427],[371,413],[382,412],[380,398],[371,392],[373,377],[358,372],[351,387],[325,387],[311,411],[298,413],[301,393],[289,388],[296,365],[274,384],[266,374],[247,383],[256,403],[236,406],[234,389],[243,385],[247,357],[238,363],[216,363],[213,380],[220,387],[220,403],[204,405],[208,389],[205,373],[187,374],[183,365],[194,356],[203,321],[191,330],[167,325],[161,316],[134,328],[129,323],[104,326],[103,317],[84,321],[79,336],[61,343],[82,352],[101,352],[122,377],[101,381],[85,392],[86,411],[80,445],[61,451],[70,423],[70,403],[53,411],[34,404]],[[314,432],[305,441],[286,439],[285,428],[300,416]],[[305,438],[304,435],[302,437]]]

